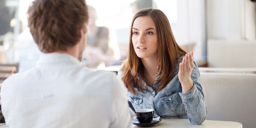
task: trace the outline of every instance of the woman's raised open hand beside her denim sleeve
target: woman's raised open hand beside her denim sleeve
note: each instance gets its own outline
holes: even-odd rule
[[[190,77],[194,68],[193,51],[185,55],[179,67],[179,81],[181,82],[183,92],[186,93],[193,88],[193,81]]]

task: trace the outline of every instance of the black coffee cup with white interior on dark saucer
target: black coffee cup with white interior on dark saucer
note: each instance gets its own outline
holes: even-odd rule
[[[139,123],[151,123],[154,116],[154,109],[138,109],[135,110]]]

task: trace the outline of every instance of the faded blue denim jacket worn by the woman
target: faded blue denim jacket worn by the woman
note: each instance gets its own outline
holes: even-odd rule
[[[205,120],[207,111],[202,87],[199,83],[200,74],[195,61],[191,73],[194,86],[187,93],[183,93],[182,91],[178,72],[179,63],[182,61],[183,57],[177,60],[169,83],[161,91],[156,91],[159,81],[154,83],[153,88],[147,86],[147,84],[142,81],[143,88],[145,91],[147,90],[146,93],[138,91],[137,88],[135,88],[136,95],[127,92],[129,101],[132,103],[135,110],[151,108],[154,109],[154,117],[189,119],[192,124],[201,124]],[[118,77],[121,77],[121,73],[122,72],[118,72]],[[157,78],[159,77],[160,75],[157,76]]]

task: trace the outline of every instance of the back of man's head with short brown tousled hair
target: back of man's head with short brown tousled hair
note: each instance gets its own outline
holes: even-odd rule
[[[28,27],[43,53],[67,51],[87,31],[85,0],[35,0],[27,13]]]

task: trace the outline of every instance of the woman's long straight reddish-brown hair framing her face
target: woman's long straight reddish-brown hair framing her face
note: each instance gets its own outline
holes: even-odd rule
[[[143,64],[141,59],[136,55],[132,44],[132,26],[133,22],[138,17],[149,16],[151,17],[156,26],[157,41],[158,41],[158,67],[155,75],[161,76],[156,80],[160,81],[157,90],[162,90],[168,84],[170,77],[173,73],[174,66],[181,55],[186,52],[181,49],[174,39],[171,31],[171,27],[166,15],[158,9],[146,8],[137,12],[132,20],[130,28],[130,40],[128,58],[124,61],[122,71],[122,80],[128,91],[136,94],[135,88],[141,92],[145,92],[143,89]],[[138,78],[137,78],[138,77]]]

